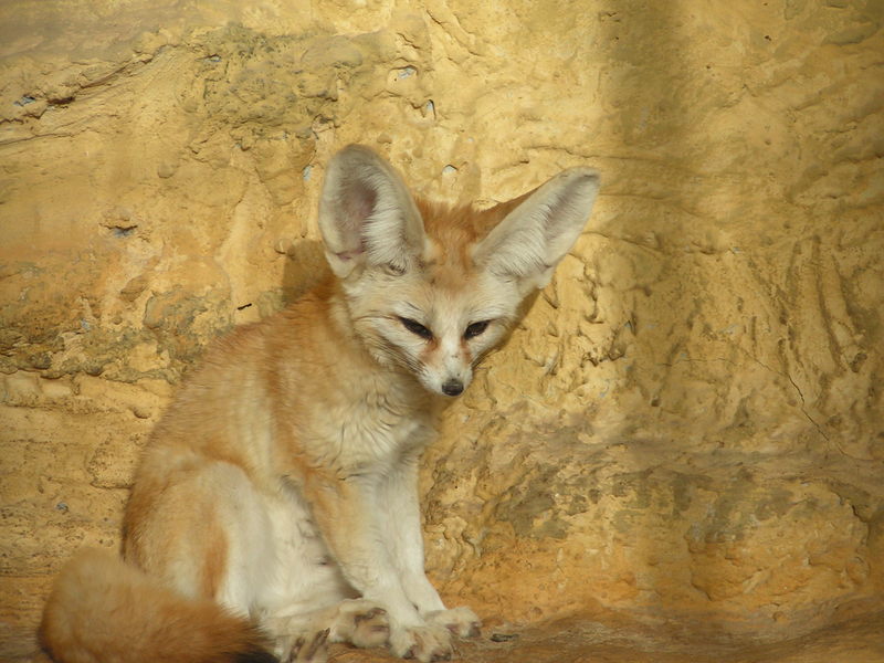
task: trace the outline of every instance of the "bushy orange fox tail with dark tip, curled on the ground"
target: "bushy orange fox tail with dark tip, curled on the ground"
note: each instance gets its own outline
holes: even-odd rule
[[[40,639],[57,663],[276,661],[249,620],[177,594],[99,550],[85,550],[62,569]]]

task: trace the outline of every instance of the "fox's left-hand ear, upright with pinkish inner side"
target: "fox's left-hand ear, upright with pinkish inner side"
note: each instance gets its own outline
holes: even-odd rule
[[[319,231],[332,271],[385,265],[402,273],[423,250],[423,221],[399,173],[367,147],[350,145],[328,162]]]

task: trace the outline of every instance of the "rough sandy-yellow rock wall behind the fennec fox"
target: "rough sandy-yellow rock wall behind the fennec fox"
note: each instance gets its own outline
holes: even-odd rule
[[[0,8],[8,655],[182,371],[315,280],[351,141],[449,201],[604,175],[428,453],[446,596],[771,635],[881,598],[876,3],[241,4]]]

